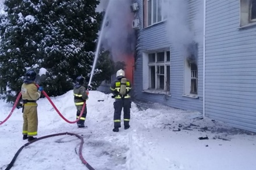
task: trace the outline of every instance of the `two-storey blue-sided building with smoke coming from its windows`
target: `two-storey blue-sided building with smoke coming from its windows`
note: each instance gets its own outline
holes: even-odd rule
[[[134,0],[136,99],[256,132],[256,0]]]

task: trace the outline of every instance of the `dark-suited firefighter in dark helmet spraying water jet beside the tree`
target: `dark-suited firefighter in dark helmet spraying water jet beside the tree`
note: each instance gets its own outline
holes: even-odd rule
[[[76,78],[76,84],[74,84],[74,105],[76,106],[76,118],[79,118],[79,115],[82,111],[83,104],[88,100],[88,90],[83,86],[84,77],[79,76]],[[84,108],[84,112],[79,121],[77,121],[77,126],[79,128],[84,128],[84,121],[86,120],[87,115],[87,107]]]

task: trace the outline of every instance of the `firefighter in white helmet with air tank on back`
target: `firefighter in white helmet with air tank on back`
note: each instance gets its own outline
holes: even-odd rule
[[[113,132],[119,132],[121,127],[121,113],[123,109],[123,123],[125,129],[129,129],[130,125],[130,108],[131,108],[131,96],[129,95],[131,91],[130,81],[125,77],[125,71],[122,69],[116,72],[116,80],[111,85],[111,92],[113,93],[113,98],[115,102],[113,106],[115,108],[114,112],[114,128]]]

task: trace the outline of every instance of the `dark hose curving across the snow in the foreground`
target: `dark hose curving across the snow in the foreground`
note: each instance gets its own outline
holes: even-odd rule
[[[88,162],[86,160],[84,160],[84,157],[82,155],[82,149],[83,149],[83,144],[84,144],[84,139],[82,136],[80,135],[77,135],[76,133],[69,133],[69,132],[65,132],[65,133],[55,133],[55,134],[52,134],[52,135],[47,135],[47,136],[42,136],[41,138],[37,138],[37,139],[34,139],[30,142],[27,142],[25,143],[22,147],[20,147],[20,149],[16,152],[15,156],[13,157],[12,161],[10,161],[10,164],[8,165],[8,167],[6,167],[5,170],[9,170],[10,168],[13,167],[13,164],[17,158],[17,156],[20,154],[20,152],[22,151],[22,149],[26,146],[28,146],[29,144],[31,143],[34,143],[34,142],[37,142],[38,140],[42,140],[42,139],[46,139],[46,138],[50,138],[50,137],[53,137],[53,136],[61,136],[61,135],[71,135],[71,136],[76,136],[77,138],[79,138],[81,140],[81,143],[80,143],[80,147],[79,147],[79,158],[80,160],[83,162],[84,165],[86,165],[86,167],[89,169],[89,170],[94,170],[93,167],[91,167],[90,164],[88,164]]]

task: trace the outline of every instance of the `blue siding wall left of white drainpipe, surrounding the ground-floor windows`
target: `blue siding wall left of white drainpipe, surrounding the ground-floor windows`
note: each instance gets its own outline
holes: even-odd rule
[[[143,23],[143,0],[136,1],[140,6],[137,16],[140,23]],[[198,11],[202,7],[202,0],[189,0],[189,23],[200,20],[201,30],[203,27],[202,17],[198,18]],[[137,31],[137,60],[136,69],[134,72],[134,91],[137,100],[148,102],[162,103],[171,107],[181,108],[184,110],[193,110],[202,113],[202,31],[195,31],[195,37],[198,41],[198,99],[184,97],[183,95],[183,72],[184,59],[172,49],[170,42],[167,39],[166,22],[155,24],[147,28],[143,28],[141,24],[140,30]],[[143,52],[148,50],[157,50],[162,48],[171,48],[171,64],[170,64],[170,93],[171,96],[158,95],[143,92]]]

